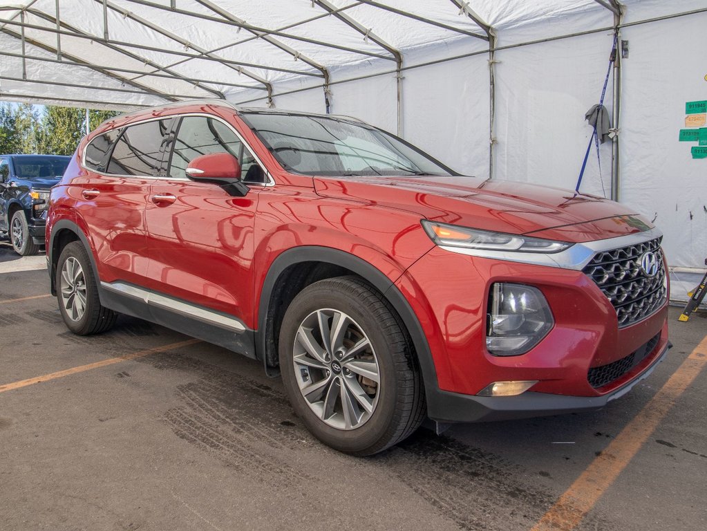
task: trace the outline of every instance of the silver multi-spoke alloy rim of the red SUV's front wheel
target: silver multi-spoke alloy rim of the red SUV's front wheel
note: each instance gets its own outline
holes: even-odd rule
[[[349,315],[310,313],[297,330],[293,354],[300,392],[320,420],[351,430],[370,419],[380,395],[378,358]]]

